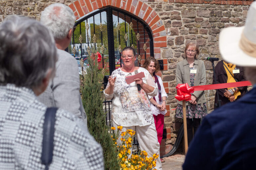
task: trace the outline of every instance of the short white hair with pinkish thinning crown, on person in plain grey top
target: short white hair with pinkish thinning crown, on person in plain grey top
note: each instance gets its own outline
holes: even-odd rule
[[[43,10],[40,21],[52,32],[55,40],[61,40],[73,29],[75,16],[66,5],[55,3]]]

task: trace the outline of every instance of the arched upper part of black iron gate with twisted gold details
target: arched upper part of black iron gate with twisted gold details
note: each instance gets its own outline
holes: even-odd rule
[[[93,22],[90,22],[91,19],[93,19]],[[84,24],[82,24],[83,22]],[[130,44],[135,50],[137,48],[139,66],[141,55],[143,55],[145,59],[146,56],[154,56],[153,36],[149,26],[136,16],[128,14],[123,10],[113,7],[97,10],[79,19],[75,23],[75,26],[79,29],[76,29],[73,33],[71,41],[72,52],[71,48],[69,48],[70,53],[77,56],[77,58],[83,58],[83,56],[86,58],[86,56],[90,54],[92,48],[96,49],[102,56],[102,67],[105,71],[103,71],[104,74],[109,73],[109,75],[111,75],[112,71],[116,69],[116,65],[120,64],[120,66],[122,66],[120,52],[124,47],[129,46]],[[124,27],[125,29],[124,37],[122,37],[120,33],[121,27]],[[107,29],[107,31],[105,29]],[[117,29],[117,36],[114,36],[114,29]],[[85,32],[85,34],[83,32]],[[140,33],[142,33],[142,35],[140,35]],[[147,36],[148,38],[146,38]],[[105,39],[107,39],[107,42],[104,41]],[[121,40],[125,41],[125,43],[122,44]],[[146,44],[149,44],[149,47],[147,47]],[[148,48],[150,49],[150,54],[146,53]],[[144,54],[141,54],[142,50],[144,50]],[[106,69],[107,67],[109,67],[109,70]]]

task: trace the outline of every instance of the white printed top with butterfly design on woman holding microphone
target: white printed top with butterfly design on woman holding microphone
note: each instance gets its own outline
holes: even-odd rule
[[[154,90],[151,93],[146,92],[141,88],[137,89],[137,84],[132,82],[127,84],[125,78],[134,75],[134,72],[125,72],[121,68],[114,70],[111,77],[117,77],[114,86],[114,93],[109,95],[105,93],[106,100],[112,101],[112,119],[121,126],[146,126],[154,123],[152,111],[150,109],[149,96],[156,96],[158,88],[150,75],[150,73],[142,67],[139,67],[138,72],[144,72],[145,77],[143,82],[153,86]],[[106,89],[109,87],[107,84]]]

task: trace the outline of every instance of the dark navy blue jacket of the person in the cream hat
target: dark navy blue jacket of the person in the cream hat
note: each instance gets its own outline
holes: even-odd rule
[[[183,169],[256,169],[255,87],[204,118]]]

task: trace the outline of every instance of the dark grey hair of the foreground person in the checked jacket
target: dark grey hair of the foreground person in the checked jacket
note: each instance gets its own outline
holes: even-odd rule
[[[8,17],[0,24],[0,84],[35,89],[49,70],[55,72],[55,42],[39,21]]]

